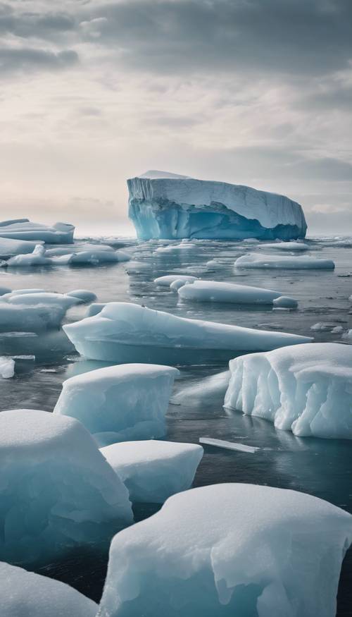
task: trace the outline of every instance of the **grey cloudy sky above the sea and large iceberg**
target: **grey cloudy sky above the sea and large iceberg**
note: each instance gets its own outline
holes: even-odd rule
[[[351,0],[0,1],[1,219],[127,233],[147,169],[352,232]]]

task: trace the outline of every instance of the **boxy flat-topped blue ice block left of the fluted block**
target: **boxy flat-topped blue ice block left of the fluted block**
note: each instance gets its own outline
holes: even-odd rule
[[[100,445],[165,435],[165,413],[177,369],[128,364],[70,377],[54,414],[80,420]]]

